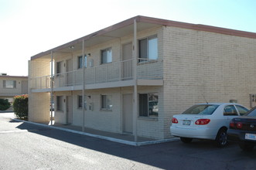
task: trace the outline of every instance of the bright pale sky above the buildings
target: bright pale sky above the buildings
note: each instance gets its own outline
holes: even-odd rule
[[[0,0],[0,73],[135,15],[256,32],[256,0]]]

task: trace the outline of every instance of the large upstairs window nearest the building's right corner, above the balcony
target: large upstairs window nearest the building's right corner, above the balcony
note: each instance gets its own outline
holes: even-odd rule
[[[139,62],[158,59],[157,36],[151,36],[138,41],[138,58]]]

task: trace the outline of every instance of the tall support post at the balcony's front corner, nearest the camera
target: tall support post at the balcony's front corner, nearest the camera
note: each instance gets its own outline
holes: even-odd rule
[[[133,134],[135,142],[137,142],[137,110],[138,110],[138,92],[137,92],[137,21],[134,20],[134,34],[133,34],[133,70],[134,70],[134,103],[133,103]]]

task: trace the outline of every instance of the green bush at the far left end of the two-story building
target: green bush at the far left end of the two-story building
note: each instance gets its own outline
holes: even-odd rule
[[[19,119],[27,119],[29,110],[29,95],[24,94],[15,96],[13,101],[13,111],[15,117]]]

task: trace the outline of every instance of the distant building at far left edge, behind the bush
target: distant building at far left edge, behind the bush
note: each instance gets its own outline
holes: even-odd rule
[[[13,97],[28,93],[28,76],[8,76],[0,73],[0,98],[13,101]]]

